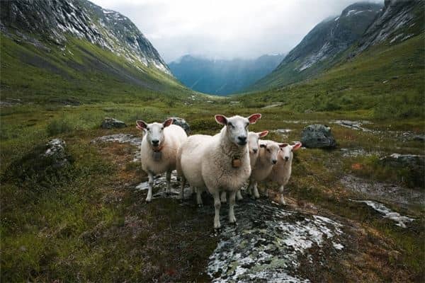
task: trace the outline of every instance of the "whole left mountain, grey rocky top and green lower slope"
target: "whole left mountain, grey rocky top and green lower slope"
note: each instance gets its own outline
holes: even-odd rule
[[[183,89],[130,19],[86,0],[0,1],[0,30],[3,98]]]

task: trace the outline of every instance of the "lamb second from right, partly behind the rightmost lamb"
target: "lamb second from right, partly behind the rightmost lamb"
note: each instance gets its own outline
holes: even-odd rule
[[[260,197],[257,183],[266,180],[268,175],[270,175],[273,166],[278,162],[280,147],[285,146],[271,140],[261,140],[259,145],[259,156],[256,158],[248,185],[248,192],[251,192],[251,195],[256,199]]]

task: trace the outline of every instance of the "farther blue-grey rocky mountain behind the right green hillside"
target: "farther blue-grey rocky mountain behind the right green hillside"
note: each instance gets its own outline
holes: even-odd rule
[[[382,6],[372,3],[352,4],[341,15],[317,24],[278,67],[255,83],[254,89],[283,86],[302,81],[333,66],[380,13]]]

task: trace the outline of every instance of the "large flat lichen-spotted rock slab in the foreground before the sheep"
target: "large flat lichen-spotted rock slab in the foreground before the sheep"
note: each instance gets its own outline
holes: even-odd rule
[[[316,270],[344,249],[343,225],[327,217],[269,200],[237,202],[234,211],[237,226],[228,224],[222,209],[220,242],[207,268],[212,282],[309,282],[300,277],[301,262]]]

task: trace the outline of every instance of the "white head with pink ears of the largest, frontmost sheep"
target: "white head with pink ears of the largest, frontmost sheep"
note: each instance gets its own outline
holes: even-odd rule
[[[224,115],[215,115],[217,123],[226,127],[225,130],[229,141],[238,146],[246,146],[248,142],[248,126],[255,124],[259,118],[261,118],[261,114],[253,114],[247,118],[239,115],[229,118]]]

